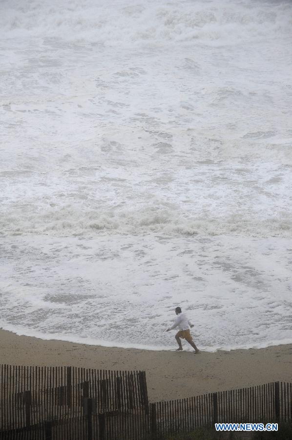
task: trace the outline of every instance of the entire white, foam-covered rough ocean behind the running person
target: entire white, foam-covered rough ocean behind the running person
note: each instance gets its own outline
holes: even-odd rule
[[[292,6],[0,2],[0,326],[292,342]]]

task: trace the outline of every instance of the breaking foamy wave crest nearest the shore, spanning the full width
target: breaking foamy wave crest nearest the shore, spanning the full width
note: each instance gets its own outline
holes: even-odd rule
[[[39,208],[36,207],[36,211]],[[86,211],[73,206],[43,212],[32,210],[14,212],[0,222],[1,234],[147,234],[165,235],[235,235],[248,237],[292,237],[292,220],[289,213],[280,217],[259,219],[256,215],[247,217],[243,213],[233,213],[224,217],[211,217],[148,207],[138,211]]]

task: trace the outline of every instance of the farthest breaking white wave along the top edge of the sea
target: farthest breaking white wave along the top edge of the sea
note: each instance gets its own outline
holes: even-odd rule
[[[182,7],[183,6],[183,7]],[[260,6],[260,7],[259,7]],[[154,2],[125,1],[96,4],[92,0],[2,2],[3,37],[54,37],[105,45],[165,44],[173,41],[220,41],[233,44],[271,32],[289,32],[288,4],[258,5],[247,1]]]

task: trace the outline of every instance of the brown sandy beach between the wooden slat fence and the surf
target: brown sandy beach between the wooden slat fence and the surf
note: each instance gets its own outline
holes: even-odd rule
[[[292,381],[292,345],[194,354],[46,341],[0,330],[0,362],[145,370],[150,401],[197,396],[276,380]]]

